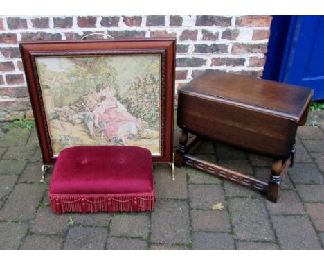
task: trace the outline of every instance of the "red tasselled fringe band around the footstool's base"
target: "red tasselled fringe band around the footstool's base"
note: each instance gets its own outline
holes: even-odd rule
[[[53,212],[152,211],[155,192],[140,194],[48,194]]]

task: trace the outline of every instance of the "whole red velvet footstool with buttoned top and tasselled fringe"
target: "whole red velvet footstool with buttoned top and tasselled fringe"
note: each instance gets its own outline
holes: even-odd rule
[[[64,212],[151,211],[152,155],[136,146],[76,146],[57,157],[48,197]]]

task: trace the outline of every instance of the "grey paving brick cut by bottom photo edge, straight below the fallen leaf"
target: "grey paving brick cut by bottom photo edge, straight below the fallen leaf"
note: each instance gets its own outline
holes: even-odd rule
[[[201,250],[235,249],[231,234],[212,232],[195,232],[195,234],[193,234],[192,248]]]

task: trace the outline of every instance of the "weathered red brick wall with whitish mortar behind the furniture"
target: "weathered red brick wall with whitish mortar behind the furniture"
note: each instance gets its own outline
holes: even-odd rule
[[[177,37],[176,89],[204,69],[262,76],[271,16],[0,17],[0,120],[30,113],[19,41]],[[97,36],[102,38],[102,36]]]

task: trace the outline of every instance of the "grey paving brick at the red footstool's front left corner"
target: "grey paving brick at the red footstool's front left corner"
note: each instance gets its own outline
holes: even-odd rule
[[[30,232],[37,234],[63,234],[69,227],[69,214],[55,214],[51,207],[37,211],[35,219],[30,224]]]

